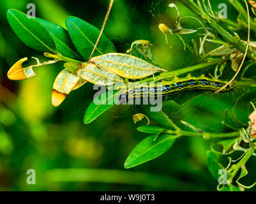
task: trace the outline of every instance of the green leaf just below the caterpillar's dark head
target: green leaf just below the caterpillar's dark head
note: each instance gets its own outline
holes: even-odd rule
[[[91,102],[84,115],[84,123],[89,124],[90,122],[93,122],[93,120],[102,115],[102,113],[104,113],[105,111],[109,110],[109,108],[114,106],[116,104],[115,100],[117,92],[119,91],[107,91],[102,93],[100,95],[100,98],[103,97],[103,99],[100,101],[101,103],[99,103],[98,105],[95,104],[94,101]]]

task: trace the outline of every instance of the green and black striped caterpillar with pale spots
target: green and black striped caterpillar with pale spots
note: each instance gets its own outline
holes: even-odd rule
[[[141,97],[154,97],[156,94],[162,96],[170,96],[178,92],[193,91],[193,90],[205,90],[205,91],[217,91],[220,87],[227,84],[222,80],[215,78],[207,78],[204,75],[200,77],[191,77],[188,75],[186,78],[174,78],[172,81],[162,81],[162,85],[156,84],[137,84],[133,87],[128,87],[121,90],[119,101],[123,99],[141,98]],[[235,83],[227,85],[221,92],[229,92],[235,89]]]

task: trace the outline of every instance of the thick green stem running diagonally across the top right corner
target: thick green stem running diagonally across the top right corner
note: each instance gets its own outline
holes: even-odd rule
[[[179,0],[181,3],[184,4],[188,9],[190,9],[195,15],[200,17],[204,23],[211,26],[215,31],[222,36],[224,41],[229,42],[231,45],[233,45],[237,50],[239,50],[242,53],[245,53],[246,46],[241,42],[239,39],[239,36],[236,34],[235,36],[232,36],[229,32],[227,32],[225,29],[223,29],[222,26],[218,24],[218,22],[215,21],[212,17],[210,17],[207,13],[200,10],[199,6],[195,4],[192,0]],[[243,7],[243,6],[242,6]],[[252,59],[252,61],[256,62],[254,53],[252,50],[248,50],[247,57]]]

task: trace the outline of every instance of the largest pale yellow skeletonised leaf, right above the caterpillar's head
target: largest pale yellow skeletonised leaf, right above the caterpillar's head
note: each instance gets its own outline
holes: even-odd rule
[[[139,79],[165,69],[158,68],[132,55],[109,53],[91,59],[97,66],[112,71],[120,77]]]

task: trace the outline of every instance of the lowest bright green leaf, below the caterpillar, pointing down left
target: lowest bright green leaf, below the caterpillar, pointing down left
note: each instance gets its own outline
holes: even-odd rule
[[[154,137],[155,135],[148,136],[132,150],[124,163],[124,168],[132,168],[161,156],[172,147],[177,138],[177,136],[163,134],[158,140],[153,141]]]

